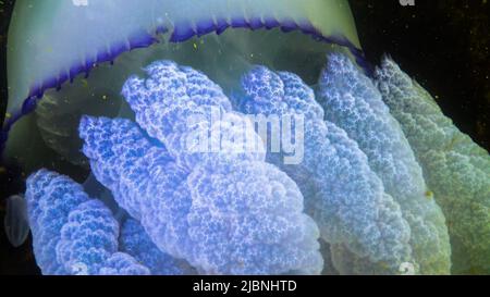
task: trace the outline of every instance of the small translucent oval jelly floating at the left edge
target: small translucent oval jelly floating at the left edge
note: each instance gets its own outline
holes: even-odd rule
[[[27,206],[24,197],[14,195],[7,199],[7,214],[3,221],[7,238],[13,247],[22,246],[29,235]]]

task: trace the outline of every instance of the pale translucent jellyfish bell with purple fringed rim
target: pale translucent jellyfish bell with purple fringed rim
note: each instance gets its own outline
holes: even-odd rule
[[[198,69],[230,91],[250,64],[314,84],[327,52],[359,60],[359,48],[346,0],[17,0],[3,157],[26,174],[87,166],[79,116],[131,117],[121,87],[155,60]]]

